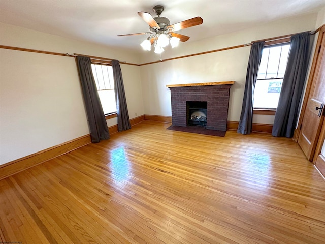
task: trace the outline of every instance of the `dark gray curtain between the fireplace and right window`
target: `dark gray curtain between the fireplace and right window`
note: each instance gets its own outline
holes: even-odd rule
[[[250,49],[242,112],[240,114],[237,129],[238,133],[250,134],[252,131],[254,88],[258,75],[259,63],[261,62],[262,58],[263,48],[264,41],[254,42]]]

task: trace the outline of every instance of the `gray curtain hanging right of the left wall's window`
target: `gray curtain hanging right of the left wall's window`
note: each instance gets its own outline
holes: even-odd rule
[[[112,60],[112,68],[114,76],[118,131],[128,130],[131,129],[131,124],[128,117],[120,62],[118,60]]]

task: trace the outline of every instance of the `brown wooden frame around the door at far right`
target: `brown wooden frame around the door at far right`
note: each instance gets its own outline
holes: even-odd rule
[[[317,38],[317,44],[315,47],[314,57],[313,57],[313,61],[312,61],[312,65],[311,65],[311,69],[310,69],[310,73],[309,73],[305,97],[303,100],[303,104],[301,106],[301,112],[300,112],[300,116],[299,116],[299,120],[298,120],[298,124],[297,124],[297,129],[295,130],[294,137],[293,137],[293,139],[296,142],[298,142],[298,138],[299,138],[300,131],[301,131],[301,125],[302,125],[302,121],[303,121],[303,118],[304,118],[304,115],[306,112],[307,102],[309,100],[310,93],[315,89],[315,85],[316,85],[316,80],[314,78],[317,73],[317,70],[316,70],[317,63],[321,61],[319,59],[319,53],[320,53],[322,39],[325,38],[325,35],[324,35],[325,34],[325,24],[323,24],[321,27],[319,27],[318,30],[319,30],[319,33],[318,33],[318,38]],[[323,47],[323,48],[325,48],[325,47]],[[317,143],[316,150],[315,150],[315,153],[313,156],[312,162],[314,164],[316,162],[318,154],[320,153],[324,139],[325,139],[325,119],[323,121],[321,131],[319,133],[318,143]]]

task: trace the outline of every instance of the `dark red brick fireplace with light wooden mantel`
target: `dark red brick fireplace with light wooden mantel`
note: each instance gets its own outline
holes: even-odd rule
[[[222,81],[167,85],[171,91],[172,124],[189,126],[190,114],[193,110],[189,104],[206,103],[206,129],[225,131],[228,120],[229,93],[234,83],[234,81]],[[200,107],[198,109],[205,110]]]

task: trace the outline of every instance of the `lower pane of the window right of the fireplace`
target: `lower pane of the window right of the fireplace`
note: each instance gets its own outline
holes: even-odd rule
[[[254,108],[277,108],[283,79],[257,80]]]

